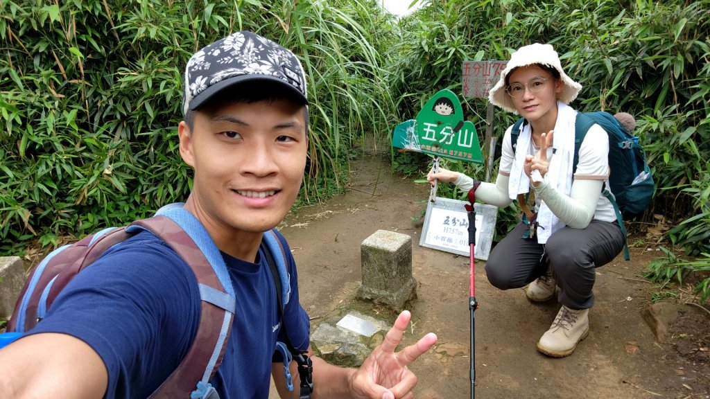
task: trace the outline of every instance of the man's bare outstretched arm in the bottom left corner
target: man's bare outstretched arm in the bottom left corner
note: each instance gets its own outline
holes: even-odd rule
[[[0,398],[103,398],[99,354],[67,334],[34,334],[0,350]]]

